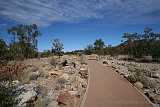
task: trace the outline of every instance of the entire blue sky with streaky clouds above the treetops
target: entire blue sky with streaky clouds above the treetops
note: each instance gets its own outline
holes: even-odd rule
[[[160,32],[160,0],[0,0],[0,38],[9,43],[6,29],[18,24],[39,26],[39,51],[51,49],[53,38],[64,51],[84,49],[98,38],[115,46],[125,32]]]

